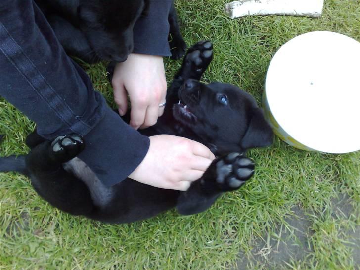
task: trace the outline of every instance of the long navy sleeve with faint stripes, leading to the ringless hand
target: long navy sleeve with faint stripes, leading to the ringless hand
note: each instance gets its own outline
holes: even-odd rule
[[[93,90],[32,0],[0,1],[0,95],[46,139],[83,135],[86,148],[79,157],[105,185],[125,179],[147,153],[149,138]]]

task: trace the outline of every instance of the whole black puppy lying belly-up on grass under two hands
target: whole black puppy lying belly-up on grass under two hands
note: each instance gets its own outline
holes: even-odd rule
[[[53,206],[73,215],[110,223],[146,219],[176,207],[180,214],[209,208],[225,191],[238,189],[254,173],[243,152],[272,143],[272,131],[254,98],[223,83],[198,80],[212,59],[212,44],[192,46],[168,90],[164,115],[145,135],[180,135],[207,145],[218,156],[187,191],[167,190],[132,179],[105,187],[76,155],[84,147],[77,135],[43,141],[27,138],[25,157],[0,159],[0,171],[30,176],[35,190]]]

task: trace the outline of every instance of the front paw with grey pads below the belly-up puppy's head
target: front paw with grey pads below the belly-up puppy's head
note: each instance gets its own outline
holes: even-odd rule
[[[254,162],[239,153],[230,153],[216,163],[216,182],[223,191],[238,189],[254,174]]]

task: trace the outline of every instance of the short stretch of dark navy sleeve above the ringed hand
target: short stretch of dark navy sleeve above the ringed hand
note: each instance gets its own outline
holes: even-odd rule
[[[170,56],[169,12],[172,0],[149,0],[147,15],[134,27],[135,53]]]

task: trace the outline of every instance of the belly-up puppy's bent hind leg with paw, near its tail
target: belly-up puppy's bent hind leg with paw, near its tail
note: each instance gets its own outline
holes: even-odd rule
[[[53,142],[39,144],[25,159],[38,194],[51,205],[73,215],[89,214],[94,207],[88,187],[62,167],[62,163],[74,158],[83,148],[81,137],[60,136]]]

